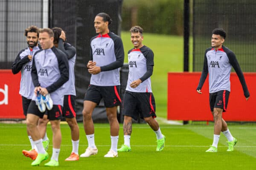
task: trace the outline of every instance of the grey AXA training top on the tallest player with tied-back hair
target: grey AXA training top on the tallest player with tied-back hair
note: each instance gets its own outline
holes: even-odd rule
[[[90,59],[101,68],[99,74],[92,74],[91,85],[120,85],[119,67],[124,63],[124,48],[120,37],[112,32],[93,37],[90,40]]]

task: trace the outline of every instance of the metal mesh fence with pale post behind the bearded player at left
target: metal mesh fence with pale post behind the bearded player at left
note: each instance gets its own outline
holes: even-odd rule
[[[27,47],[24,30],[48,27],[48,0],[0,0],[0,69],[10,69]]]

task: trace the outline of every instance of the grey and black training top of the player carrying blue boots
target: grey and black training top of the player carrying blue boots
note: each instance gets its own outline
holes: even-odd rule
[[[31,76],[35,87],[47,88],[53,105],[63,106],[63,85],[69,79],[66,54],[55,47],[37,51],[33,57]],[[35,95],[32,100],[35,100]]]

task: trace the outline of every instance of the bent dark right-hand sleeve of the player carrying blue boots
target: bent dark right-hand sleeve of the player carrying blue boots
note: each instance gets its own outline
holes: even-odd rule
[[[62,51],[55,51],[55,55],[58,60],[58,68],[60,70],[61,77],[46,88],[48,93],[52,93],[53,91],[57,90],[69,79],[69,65],[66,54],[64,54]]]

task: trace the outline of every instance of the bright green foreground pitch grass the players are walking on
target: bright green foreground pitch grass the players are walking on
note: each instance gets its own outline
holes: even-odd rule
[[[87,139],[80,127],[79,154],[87,147]],[[122,127],[122,124],[120,124]],[[118,158],[104,158],[110,148],[108,124],[95,125],[95,139],[99,153],[89,158],[80,158],[77,162],[64,161],[72,150],[70,128],[61,125],[62,144],[59,156],[60,167],[55,170],[253,170],[256,168],[256,142],[254,126],[229,126],[233,136],[238,139],[234,152],[226,152],[226,139],[221,134],[217,153],[205,153],[209,144],[212,144],[213,126],[206,125],[160,125],[162,133],[166,136],[165,148],[156,152],[156,136],[146,124],[134,124],[131,136],[132,151],[119,153]],[[39,167],[31,167],[31,159],[22,155],[23,149],[29,150],[29,140],[26,136],[26,125],[0,124],[0,169],[53,169],[44,167],[44,161]],[[48,125],[47,134],[51,140],[51,128]],[[119,146],[123,143],[122,128],[119,133]],[[52,140],[49,155],[52,155]]]

